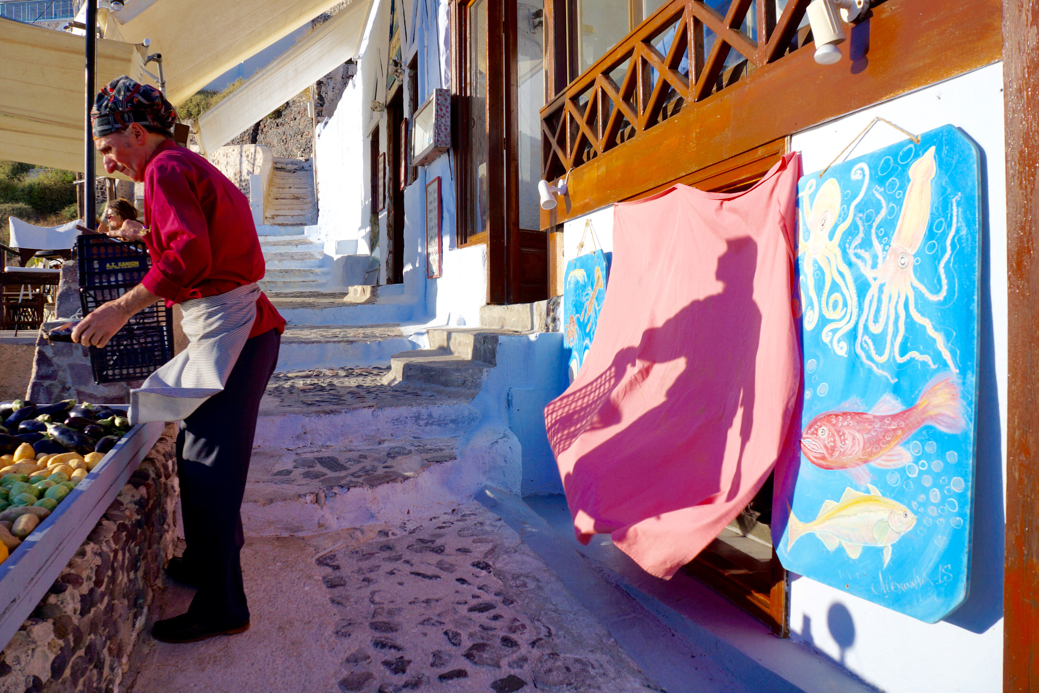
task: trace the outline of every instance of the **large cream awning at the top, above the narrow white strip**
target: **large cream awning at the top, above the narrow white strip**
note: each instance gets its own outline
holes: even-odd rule
[[[162,54],[166,98],[176,105],[337,1],[156,0],[118,32],[133,44],[151,39],[149,51]],[[121,21],[118,12],[112,17]]]

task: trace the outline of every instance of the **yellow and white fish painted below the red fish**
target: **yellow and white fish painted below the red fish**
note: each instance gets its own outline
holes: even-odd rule
[[[790,513],[787,551],[802,535],[815,534],[830,551],[840,544],[849,558],[858,558],[862,547],[883,547],[884,567],[891,560],[891,544],[916,524],[916,515],[909,508],[889,498],[884,498],[876,486],[867,484],[869,494],[845,488],[841,502],[824,501],[819,515],[810,523],[802,523]]]

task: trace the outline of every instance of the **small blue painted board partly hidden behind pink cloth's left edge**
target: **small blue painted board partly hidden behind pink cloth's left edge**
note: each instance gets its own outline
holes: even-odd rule
[[[610,269],[606,255],[594,250],[566,263],[563,285],[563,347],[569,352],[570,380],[581,370],[595,337]]]

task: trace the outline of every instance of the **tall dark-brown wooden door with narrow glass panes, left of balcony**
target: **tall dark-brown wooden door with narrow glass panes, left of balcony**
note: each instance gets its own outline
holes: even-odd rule
[[[540,0],[459,4],[458,244],[487,245],[487,302],[549,295],[540,231],[540,116],[544,101]]]

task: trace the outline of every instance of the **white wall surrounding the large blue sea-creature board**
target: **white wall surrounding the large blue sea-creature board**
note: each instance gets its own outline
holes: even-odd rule
[[[826,68],[821,68],[826,70]],[[792,576],[795,640],[843,663],[887,693],[1002,690],[1003,537],[1007,432],[1007,224],[1001,64],[795,135],[804,170],[824,168],[874,116],[910,132],[952,124],[983,152],[988,266],[982,270],[976,527],[967,602],[928,624],[807,578]],[[877,124],[849,157],[905,138]],[[984,244],[982,245],[984,248]]]

